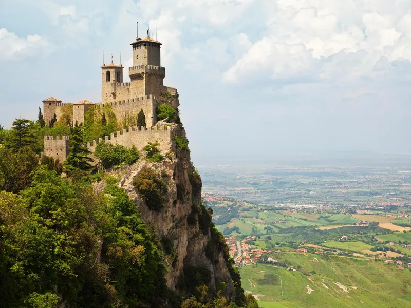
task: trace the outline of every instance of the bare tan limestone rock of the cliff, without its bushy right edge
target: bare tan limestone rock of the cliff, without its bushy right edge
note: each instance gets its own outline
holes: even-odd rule
[[[175,125],[175,124],[174,124]],[[185,131],[173,127],[173,134],[184,136]],[[210,290],[215,290],[216,284],[226,284],[226,294],[235,299],[235,287],[230,276],[221,246],[212,245],[210,230],[201,230],[196,208],[201,203],[201,189],[192,186],[193,165],[188,149],[179,150],[172,145],[173,152],[163,151],[166,158],[161,162],[140,160],[132,166],[132,170],[123,177],[120,183],[126,183],[125,188],[130,199],[139,207],[142,218],[148,227],[155,227],[158,238],[173,243],[173,253],[165,257],[167,285],[172,290],[178,290],[179,278],[184,273],[185,266],[207,268],[211,276]],[[166,155],[167,154],[167,155]],[[160,211],[151,210],[139,196],[132,185],[133,177],[143,166],[157,170],[167,183],[166,201]],[[215,241],[214,241],[215,242]]]

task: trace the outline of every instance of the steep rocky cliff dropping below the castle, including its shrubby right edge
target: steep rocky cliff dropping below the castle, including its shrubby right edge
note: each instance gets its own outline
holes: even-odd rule
[[[175,137],[170,149],[162,151],[164,160],[140,159],[123,176],[120,185],[161,240],[168,268],[166,281],[171,290],[180,295],[192,294],[198,284],[206,284],[209,297],[222,288],[228,299],[241,302],[244,293],[239,276],[229,264],[222,235],[211,222],[211,209],[206,210],[202,204],[201,178],[190,160],[182,125],[172,124],[172,133]],[[147,167],[155,170],[166,184],[164,202],[157,209],[147,206],[133,185],[133,179]],[[200,282],[198,277],[201,277]]]

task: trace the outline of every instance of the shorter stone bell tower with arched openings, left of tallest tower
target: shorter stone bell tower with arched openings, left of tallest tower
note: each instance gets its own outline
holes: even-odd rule
[[[123,83],[123,65],[114,64],[101,66],[101,100],[111,102],[117,99],[117,86]]]

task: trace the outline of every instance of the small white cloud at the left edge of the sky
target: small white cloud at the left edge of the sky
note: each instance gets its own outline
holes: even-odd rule
[[[22,38],[0,28],[0,60],[21,60],[51,49],[52,45],[44,36],[34,34]]]

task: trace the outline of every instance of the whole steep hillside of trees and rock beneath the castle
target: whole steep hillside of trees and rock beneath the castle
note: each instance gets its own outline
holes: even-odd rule
[[[0,307],[257,306],[202,203],[171,114],[158,123],[172,136],[161,149],[102,141],[89,152],[83,136],[101,118],[52,127],[19,119],[2,129]],[[69,133],[63,164],[40,155],[44,136],[58,131]]]

